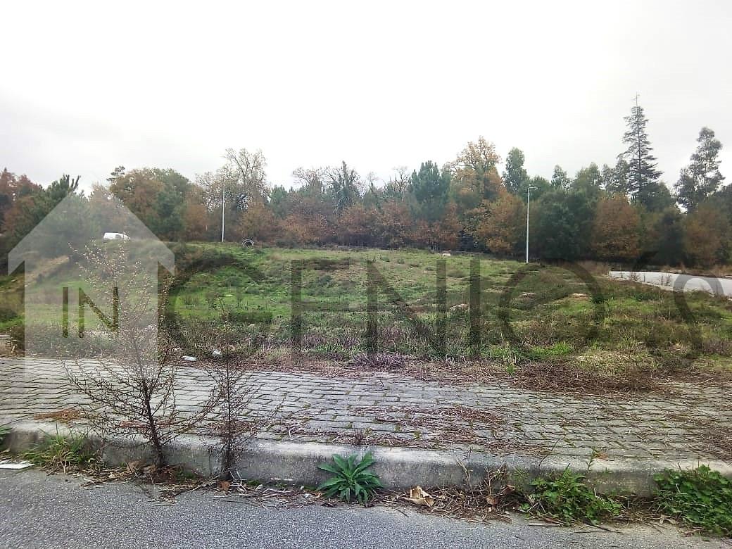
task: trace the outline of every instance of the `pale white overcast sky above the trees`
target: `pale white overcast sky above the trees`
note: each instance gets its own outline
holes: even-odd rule
[[[732,179],[729,1],[104,4],[0,7],[0,169],[193,179],[245,147],[273,184],[386,179],[484,135],[548,178],[614,164],[638,93],[666,182],[705,125]]]

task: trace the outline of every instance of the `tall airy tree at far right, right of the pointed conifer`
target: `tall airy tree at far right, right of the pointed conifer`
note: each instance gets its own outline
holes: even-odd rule
[[[696,141],[699,145],[691,155],[691,163],[681,170],[679,181],[674,185],[676,200],[687,212],[693,212],[706,197],[715,193],[725,179],[720,173],[722,143],[714,138],[714,132],[703,127]]]

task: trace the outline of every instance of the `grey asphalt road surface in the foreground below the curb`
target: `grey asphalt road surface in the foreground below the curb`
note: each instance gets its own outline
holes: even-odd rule
[[[475,525],[395,509],[357,506],[261,509],[179,496],[161,507],[130,484],[80,488],[79,477],[0,470],[1,548],[717,548],[673,529]]]

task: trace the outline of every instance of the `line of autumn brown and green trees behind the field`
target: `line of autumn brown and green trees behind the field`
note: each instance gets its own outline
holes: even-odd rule
[[[85,223],[115,231],[109,196],[119,197],[157,236],[168,241],[225,239],[280,246],[345,244],[425,247],[520,256],[526,238],[526,201],[534,258],[580,258],[651,265],[712,266],[731,261],[732,189],[723,187],[722,144],[703,127],[689,164],[670,189],[662,181],[635,105],[625,118],[624,150],[615,165],[591,163],[569,176],[557,165],[550,179],[530,176],[525,157],[501,157],[485,138],[470,141],[455,160],[432,160],[387,182],[362,176],[345,162],[297,168],[297,185],[271,186],[261,151],[228,149],[216,171],[193,182],[173,169],[116,168],[88,197],[78,178],[48,187],[0,175],[0,251],[20,239],[67,195],[92,214]],[[94,214],[96,212],[96,214]],[[94,217],[96,215],[96,218]]]

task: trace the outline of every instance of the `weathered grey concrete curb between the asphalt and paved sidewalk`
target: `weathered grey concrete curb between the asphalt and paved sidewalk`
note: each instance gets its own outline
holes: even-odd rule
[[[42,422],[15,422],[5,437],[2,448],[20,454],[46,436],[68,434],[65,425]],[[111,466],[144,459],[149,449],[132,438],[106,441],[89,436],[92,446]],[[200,436],[180,436],[168,445],[168,463],[179,464],[204,477],[212,477],[220,469],[220,452],[214,439]],[[416,485],[457,486],[469,488],[485,478],[486,471],[507,466],[511,482],[526,486],[531,479],[545,477],[569,468],[585,474],[600,493],[635,493],[649,496],[654,490],[654,474],[665,469],[690,469],[700,465],[720,471],[732,478],[732,466],[719,460],[586,460],[548,456],[534,458],[526,455],[486,455],[478,452],[447,452],[409,448],[354,447],[341,444],[253,441],[237,462],[239,474],[245,479],[275,481],[288,485],[315,486],[328,474],[318,469],[333,454],[350,455],[373,452],[373,471],[381,478],[384,488],[405,490]],[[466,475],[466,472],[468,475]]]

